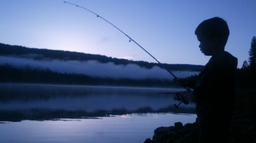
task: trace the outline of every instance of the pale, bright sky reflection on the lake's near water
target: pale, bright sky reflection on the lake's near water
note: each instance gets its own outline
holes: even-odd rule
[[[143,113],[115,115],[90,119],[60,119],[0,124],[0,142],[19,143],[130,143],[144,142],[159,126],[173,126],[174,122],[194,122],[195,115],[172,113]]]

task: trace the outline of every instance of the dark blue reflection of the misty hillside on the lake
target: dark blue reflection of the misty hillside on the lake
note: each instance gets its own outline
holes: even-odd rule
[[[0,121],[98,119],[131,113],[194,113],[175,109],[181,89],[0,84]]]

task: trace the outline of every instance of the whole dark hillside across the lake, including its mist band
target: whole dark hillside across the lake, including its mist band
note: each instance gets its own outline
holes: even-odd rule
[[[173,77],[158,63],[128,61],[97,54],[46,50],[0,43],[1,83],[170,86]],[[201,65],[163,64],[184,78]]]

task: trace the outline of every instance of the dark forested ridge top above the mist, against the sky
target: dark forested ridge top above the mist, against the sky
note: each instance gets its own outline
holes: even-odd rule
[[[129,61],[120,58],[111,58],[99,54],[85,54],[82,52],[68,52],[62,50],[46,50],[23,47],[19,45],[6,45],[0,43],[0,56],[26,56],[34,60],[52,59],[61,61],[99,61],[100,63],[114,63],[115,65],[136,64],[140,67],[150,69],[158,63],[148,63],[145,61]],[[188,64],[163,64],[167,69],[173,71],[193,71],[200,72],[203,69],[202,65]]]

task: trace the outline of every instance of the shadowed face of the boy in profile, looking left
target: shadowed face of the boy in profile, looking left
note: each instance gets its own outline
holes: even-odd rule
[[[197,39],[200,42],[199,48],[200,51],[205,55],[205,56],[212,56],[214,53],[214,45],[215,41],[214,39],[208,39],[205,36],[199,36],[197,35]]]

